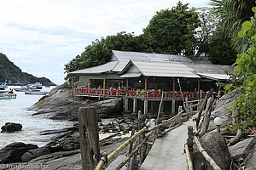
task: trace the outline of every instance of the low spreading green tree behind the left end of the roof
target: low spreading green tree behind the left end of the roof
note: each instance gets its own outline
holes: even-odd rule
[[[77,55],[67,65],[64,65],[64,70],[68,74],[72,71],[105,64],[110,59],[113,49],[142,52],[145,47],[142,36],[136,37],[133,32],[119,32],[113,36],[102,37],[101,40],[96,39],[84,48],[81,55]]]

